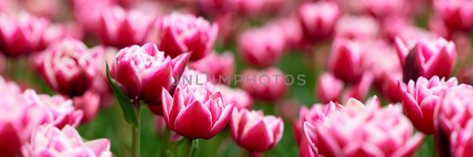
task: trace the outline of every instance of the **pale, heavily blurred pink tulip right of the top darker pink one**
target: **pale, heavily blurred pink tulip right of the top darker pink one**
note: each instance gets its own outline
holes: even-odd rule
[[[372,17],[345,15],[335,27],[335,36],[370,40],[379,35],[379,24]]]

